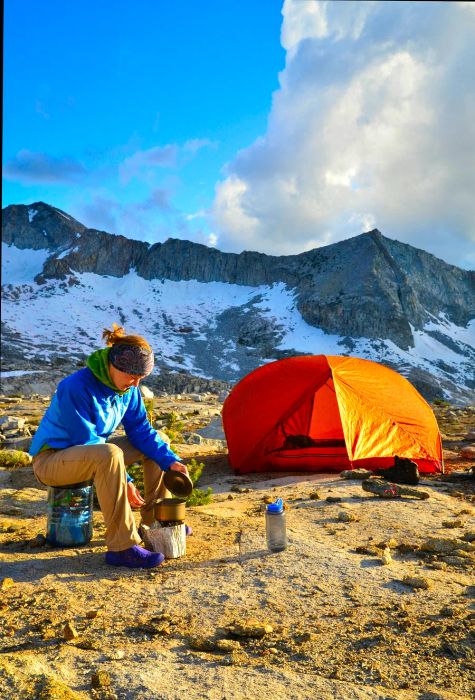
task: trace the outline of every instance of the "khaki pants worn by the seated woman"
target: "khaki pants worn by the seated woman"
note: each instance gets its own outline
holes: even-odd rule
[[[127,500],[126,466],[142,462],[145,505],[142,521],[150,524],[158,498],[169,498],[163,472],[156,462],[133,447],[127,437],[112,438],[101,445],[77,445],[64,450],[45,450],[33,458],[36,478],[47,486],[66,486],[94,480],[97,499],[106,524],[106,545],[120,552],[141,542]]]

